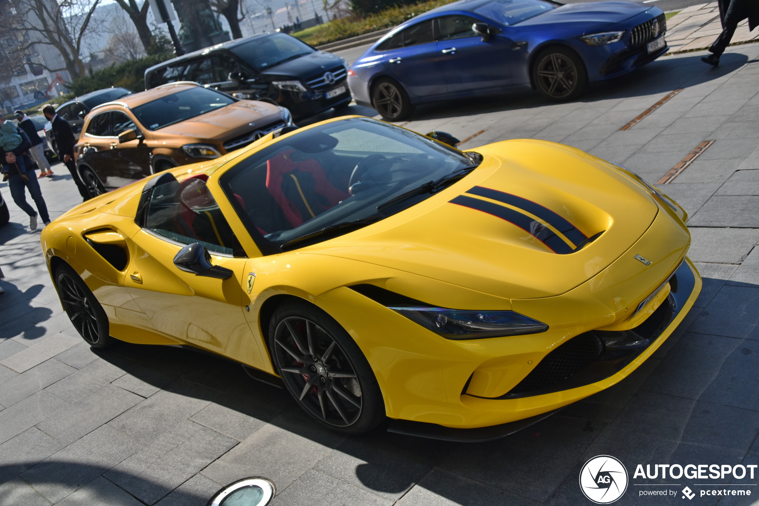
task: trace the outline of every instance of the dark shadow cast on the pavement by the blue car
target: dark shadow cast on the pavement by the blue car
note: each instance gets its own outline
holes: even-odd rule
[[[666,94],[672,90],[696,86],[735,71],[748,62],[748,56],[738,52],[726,52],[718,67],[701,61],[701,54],[684,58],[660,58],[630,74],[600,83],[591,83],[585,93],[573,102],[592,105],[593,102],[608,99],[628,99],[636,96]],[[655,100],[653,102],[656,102]],[[650,105],[653,105],[651,102]],[[556,102],[544,98],[535,90],[514,90],[493,96],[477,96],[418,105],[408,121],[452,118],[454,116],[477,115],[486,112],[509,111],[552,105]],[[645,107],[641,108],[643,112]],[[373,109],[371,110],[373,112]],[[631,116],[630,119],[635,117]]]

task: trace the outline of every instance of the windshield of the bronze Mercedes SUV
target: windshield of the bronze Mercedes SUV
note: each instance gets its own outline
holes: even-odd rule
[[[234,102],[235,99],[223,93],[196,86],[137,105],[132,112],[140,123],[150,130],[158,130],[170,124],[204,115],[206,112],[216,111]]]

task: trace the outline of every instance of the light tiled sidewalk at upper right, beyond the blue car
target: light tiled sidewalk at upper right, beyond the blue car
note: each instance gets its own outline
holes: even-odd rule
[[[716,36],[722,32],[720,9],[716,2],[691,5],[670,17],[666,22],[666,27],[668,54],[708,49]],[[731,45],[735,46],[754,39],[759,39],[759,29],[754,28],[753,32],[748,31],[748,20],[743,20],[735,30]]]

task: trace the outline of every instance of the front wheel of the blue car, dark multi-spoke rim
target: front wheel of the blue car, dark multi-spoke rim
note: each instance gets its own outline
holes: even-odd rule
[[[587,71],[582,60],[570,49],[548,48],[537,57],[533,80],[540,93],[556,102],[572,100],[587,86]]]

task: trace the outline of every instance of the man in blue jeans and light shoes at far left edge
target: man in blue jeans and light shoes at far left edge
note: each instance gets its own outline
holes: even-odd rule
[[[5,124],[5,118],[0,115],[0,126],[3,124]],[[8,187],[11,188],[13,201],[22,211],[29,215],[29,229],[36,230],[37,213],[27,202],[27,188],[32,196],[32,200],[34,200],[34,203],[37,206],[39,218],[42,218],[45,225],[49,224],[50,216],[48,215],[47,205],[45,199],[43,199],[43,192],[39,188],[39,181],[37,181],[31,160],[27,159],[25,160],[25,163],[17,163],[17,159],[22,159],[23,156],[26,156],[24,152],[29,149],[31,142],[24,130],[21,130],[20,127],[16,127],[16,130],[21,136],[20,145],[16,149],[9,151],[0,148],[0,157],[5,161],[5,165],[3,166],[3,180],[5,181],[7,179],[8,181]],[[22,167],[24,168],[22,169]]]

